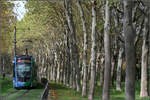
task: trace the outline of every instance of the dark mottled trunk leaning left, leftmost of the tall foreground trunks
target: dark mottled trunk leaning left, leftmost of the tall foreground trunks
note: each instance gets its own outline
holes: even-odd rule
[[[65,0],[65,13],[68,22],[68,26],[71,34],[71,51],[72,51],[72,67],[73,67],[73,89],[77,88],[77,92],[80,92],[80,71],[79,71],[79,54],[76,40],[76,31],[72,16],[72,0]],[[76,84],[77,80],[77,84]]]

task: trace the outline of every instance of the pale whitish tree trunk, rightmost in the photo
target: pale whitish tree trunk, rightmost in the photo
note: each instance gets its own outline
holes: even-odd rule
[[[146,12],[149,9],[145,8]],[[147,77],[147,68],[148,68],[148,32],[149,32],[149,16],[145,16],[144,21],[144,31],[143,31],[143,46],[142,46],[142,62],[141,62],[141,91],[140,97],[147,97],[148,96],[148,77]]]

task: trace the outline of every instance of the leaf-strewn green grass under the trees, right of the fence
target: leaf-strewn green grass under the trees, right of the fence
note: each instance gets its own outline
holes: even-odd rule
[[[122,86],[124,87],[124,83],[122,83]],[[62,84],[56,84],[51,83],[50,87],[52,87],[55,90],[55,96],[51,96],[52,100],[87,100],[87,96],[83,98],[81,96],[81,93],[77,93],[75,90],[72,90],[71,88],[68,88]],[[125,88],[122,89],[122,91],[116,91],[115,88],[111,88],[110,90],[110,100],[125,100]],[[136,84],[136,100],[150,100],[150,97],[147,98],[140,98],[140,83],[138,82]],[[54,95],[51,91],[51,95]],[[97,86],[95,88],[94,93],[94,100],[100,100],[102,97],[102,88],[100,86]]]

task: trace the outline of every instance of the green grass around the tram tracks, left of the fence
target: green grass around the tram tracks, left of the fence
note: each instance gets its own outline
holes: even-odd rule
[[[21,100],[40,100],[40,96],[44,90],[43,85],[36,83],[38,86],[35,89],[31,89],[30,93],[27,93]],[[16,93],[11,94],[11,92],[16,91],[13,88],[13,83],[11,78],[5,78],[4,80],[0,77],[0,96],[4,100],[16,100],[20,95],[22,95],[26,89],[19,90]]]

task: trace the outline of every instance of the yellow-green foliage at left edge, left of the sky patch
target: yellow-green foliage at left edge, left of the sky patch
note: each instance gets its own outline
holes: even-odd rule
[[[14,4],[8,1],[0,3],[0,51],[8,52],[12,43],[11,31],[13,24],[16,22],[16,17],[13,12]]]

